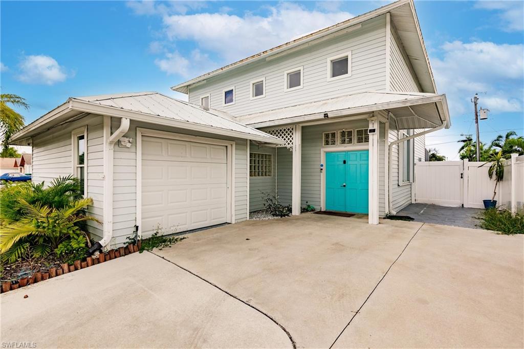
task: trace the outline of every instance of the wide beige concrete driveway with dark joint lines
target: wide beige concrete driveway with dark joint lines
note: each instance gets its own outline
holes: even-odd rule
[[[155,251],[165,260],[134,254],[2,295],[2,341],[522,347],[523,238],[362,216],[242,222]]]

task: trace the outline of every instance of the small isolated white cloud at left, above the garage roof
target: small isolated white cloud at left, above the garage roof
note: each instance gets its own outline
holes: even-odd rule
[[[49,56],[25,56],[18,64],[18,80],[30,84],[52,85],[68,78],[68,74],[58,62]]]

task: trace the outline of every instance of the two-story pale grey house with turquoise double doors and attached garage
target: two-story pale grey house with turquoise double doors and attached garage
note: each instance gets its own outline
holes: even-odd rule
[[[378,224],[412,202],[424,135],[450,126],[412,0],[172,89],[189,102],[74,97],[13,137],[33,147],[34,181],[82,180],[102,246],[243,221],[262,193],[292,214],[309,204]]]

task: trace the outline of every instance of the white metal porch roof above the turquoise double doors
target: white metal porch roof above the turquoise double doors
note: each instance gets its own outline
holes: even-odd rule
[[[307,122],[328,117],[390,111],[399,129],[450,127],[446,97],[443,94],[416,92],[359,92],[318,102],[297,104],[238,117],[238,121],[254,127],[268,127]]]

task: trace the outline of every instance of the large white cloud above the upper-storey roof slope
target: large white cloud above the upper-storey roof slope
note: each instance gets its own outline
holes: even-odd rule
[[[163,23],[170,40],[192,40],[201,49],[231,62],[290,41],[304,32],[353,17],[347,12],[324,13],[291,3],[268,7],[268,11],[267,16],[251,13],[244,16],[227,13],[170,15],[163,17]]]

